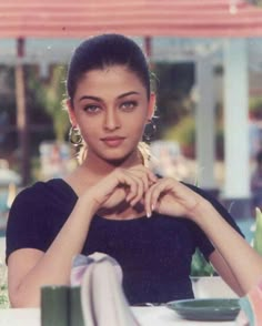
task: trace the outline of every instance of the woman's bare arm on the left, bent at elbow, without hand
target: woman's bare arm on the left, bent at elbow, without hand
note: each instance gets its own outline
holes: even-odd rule
[[[22,248],[10,255],[8,288],[12,307],[39,306],[41,286],[69,283],[72,258],[82,251],[93,214],[91,205],[79,200],[47,253]]]

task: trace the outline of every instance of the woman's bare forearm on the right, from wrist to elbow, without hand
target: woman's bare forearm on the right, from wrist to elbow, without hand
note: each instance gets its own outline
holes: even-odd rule
[[[208,235],[234,275],[240,285],[240,293],[235,287],[233,289],[240,295],[248,293],[262,277],[261,255],[220,216],[208,201],[201,202],[194,212],[191,212],[191,218]],[[218,263],[216,259],[216,265]]]

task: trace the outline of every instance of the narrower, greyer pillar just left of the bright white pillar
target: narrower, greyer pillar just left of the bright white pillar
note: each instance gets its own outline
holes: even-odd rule
[[[216,187],[214,181],[214,89],[210,58],[195,61],[198,105],[195,110],[198,184],[206,190]]]

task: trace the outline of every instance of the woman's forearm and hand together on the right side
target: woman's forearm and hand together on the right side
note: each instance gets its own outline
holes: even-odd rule
[[[236,293],[248,293],[261,278],[262,257],[208,200],[188,186],[170,177],[159,180],[145,195],[145,207],[149,215],[157,211],[196,223],[216,249],[215,267]]]

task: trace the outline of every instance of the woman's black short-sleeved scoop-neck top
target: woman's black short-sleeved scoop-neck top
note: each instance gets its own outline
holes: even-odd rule
[[[240,232],[218,201],[195,186],[188,186],[208,198]],[[74,191],[61,179],[37,182],[20,192],[8,220],[7,262],[9,255],[19,248],[46,252],[77,201]],[[214,249],[196,224],[183,217],[153,213],[151,218],[119,221],[94,215],[82,254],[102,252],[119,262],[130,304],[157,303],[193,297],[189,275],[196,247],[205,258]]]

